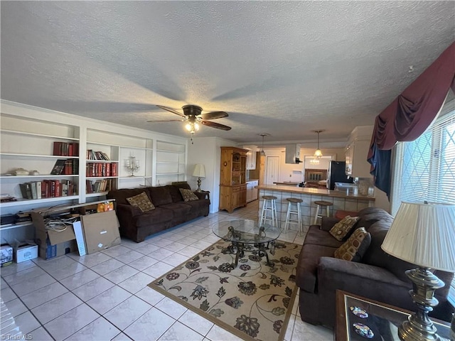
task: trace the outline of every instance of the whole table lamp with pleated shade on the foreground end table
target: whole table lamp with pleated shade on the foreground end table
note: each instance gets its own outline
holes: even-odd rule
[[[455,205],[402,202],[381,248],[417,265],[405,271],[417,311],[398,328],[400,340],[441,340],[428,313],[439,303],[434,291],[444,282],[429,269],[455,272]]]

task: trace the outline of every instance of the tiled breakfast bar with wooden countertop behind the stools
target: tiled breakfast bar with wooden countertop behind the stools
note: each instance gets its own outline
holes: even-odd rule
[[[335,216],[338,210],[346,210],[358,212],[365,207],[374,206],[375,198],[365,195],[353,195],[346,192],[338,192],[336,190],[326,190],[319,188],[301,188],[291,187],[287,185],[259,185],[259,219],[261,214],[262,205],[264,204],[263,195],[274,195],[277,197],[277,216],[279,227],[284,227],[287,214],[287,198],[295,197],[303,200],[301,202],[301,219],[304,225],[304,231],[308,230],[309,226],[313,224],[314,216],[316,215],[315,201],[328,201],[333,205],[329,206],[331,217]],[[291,229],[296,229],[291,225]]]

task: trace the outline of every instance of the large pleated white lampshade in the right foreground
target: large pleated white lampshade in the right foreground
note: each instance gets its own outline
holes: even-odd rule
[[[418,266],[455,272],[455,205],[402,202],[381,248]]]

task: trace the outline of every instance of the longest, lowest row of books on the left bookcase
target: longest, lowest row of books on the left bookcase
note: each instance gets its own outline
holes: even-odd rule
[[[24,199],[77,195],[77,186],[71,180],[31,181],[30,183],[20,183],[19,187]]]

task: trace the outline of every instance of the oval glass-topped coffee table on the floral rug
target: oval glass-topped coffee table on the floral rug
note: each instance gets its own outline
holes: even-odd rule
[[[281,230],[269,224],[263,224],[259,227],[258,222],[254,220],[226,220],[218,222],[212,227],[213,233],[221,239],[230,242],[228,248],[232,254],[235,254],[235,262],[231,264],[232,269],[237,267],[239,258],[245,256],[245,245],[257,249],[260,257],[265,256],[268,266],[274,266],[269,261],[270,254],[275,253],[275,241],[279,237]],[[250,248],[247,248],[250,249]]]

